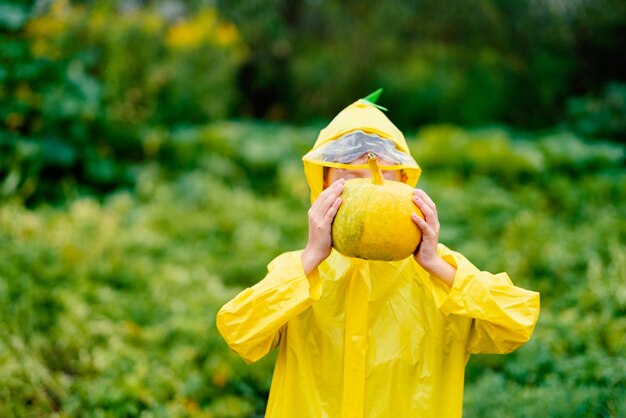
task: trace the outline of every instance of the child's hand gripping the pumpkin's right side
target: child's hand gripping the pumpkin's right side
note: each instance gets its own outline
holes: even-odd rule
[[[416,189],[413,202],[424,214],[424,219],[413,215],[413,222],[422,230],[422,241],[415,254],[415,261],[430,274],[442,279],[449,286],[454,283],[456,269],[446,263],[437,253],[439,242],[439,217],[437,206],[432,199],[421,189]]]

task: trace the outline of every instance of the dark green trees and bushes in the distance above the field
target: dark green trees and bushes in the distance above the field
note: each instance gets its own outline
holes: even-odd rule
[[[624,139],[617,0],[0,0],[0,12],[0,199],[29,205],[131,189],[162,132],[240,115],[308,124],[377,87],[404,129],[545,128],[566,114],[587,137]]]

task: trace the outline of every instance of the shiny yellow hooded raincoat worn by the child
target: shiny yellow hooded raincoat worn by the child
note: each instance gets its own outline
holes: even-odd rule
[[[355,129],[408,153],[402,133],[363,101],[322,130],[313,150]],[[325,164],[306,156],[304,164],[314,201]],[[403,170],[415,185],[417,164]],[[246,362],[279,349],[266,416],[460,417],[469,355],[508,353],[528,341],[539,294],[442,244],[438,251],[456,267],[452,288],[413,257],[367,261],[335,250],[307,277],[295,251],[224,305],[218,329]]]

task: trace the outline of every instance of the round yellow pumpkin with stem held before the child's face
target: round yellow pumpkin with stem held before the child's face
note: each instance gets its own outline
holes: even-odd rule
[[[424,215],[413,203],[413,188],[384,180],[376,156],[368,156],[371,179],[344,184],[342,204],[332,226],[333,247],[348,257],[395,261],[412,255],[421,230],[411,219]]]

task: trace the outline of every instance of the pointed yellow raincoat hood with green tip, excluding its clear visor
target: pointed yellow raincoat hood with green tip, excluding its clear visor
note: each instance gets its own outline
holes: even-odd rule
[[[380,92],[381,90],[379,89],[367,98],[359,99],[343,109],[326,128],[320,131],[313,148],[302,157],[304,174],[311,189],[311,203],[317,199],[317,196],[324,188],[324,167],[347,168],[346,164],[324,161],[320,158],[322,153],[319,151],[331,142],[357,131],[365,134],[365,136],[362,136],[363,138],[370,135],[371,137],[379,137],[383,140],[391,141],[398,154],[403,154],[404,157],[401,158],[399,164],[383,168],[402,170],[405,174],[406,184],[411,187],[415,187],[417,184],[422,170],[411,157],[402,132],[380,110],[381,107],[374,103]]]

